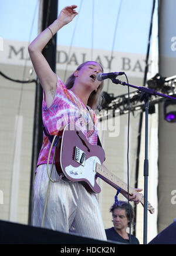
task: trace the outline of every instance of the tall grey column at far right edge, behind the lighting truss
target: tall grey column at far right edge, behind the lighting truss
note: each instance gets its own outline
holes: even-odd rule
[[[159,1],[159,66],[163,77],[176,75],[176,17],[174,0]],[[172,105],[170,110],[176,110]],[[163,103],[158,123],[158,232],[170,225],[175,216],[176,193],[175,137],[176,123],[164,120]]]

